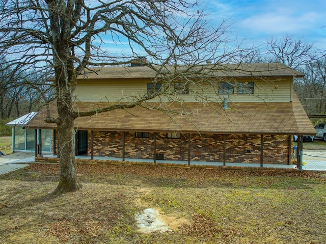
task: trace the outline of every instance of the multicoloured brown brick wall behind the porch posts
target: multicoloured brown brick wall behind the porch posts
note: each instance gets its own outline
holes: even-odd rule
[[[88,155],[91,154],[91,131],[88,131]],[[288,164],[288,135],[264,135],[264,164]],[[192,134],[191,160],[223,162],[224,137],[220,134]],[[94,131],[94,156],[122,157],[122,132]],[[169,139],[156,133],[156,153],[165,160],[188,160],[188,134]],[[153,159],[154,133],[149,138],[135,138],[125,132],[125,157]],[[260,163],[260,135],[226,135],[226,161]]]

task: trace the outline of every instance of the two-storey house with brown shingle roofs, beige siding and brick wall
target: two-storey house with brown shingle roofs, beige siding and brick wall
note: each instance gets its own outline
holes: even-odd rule
[[[178,76],[178,69],[200,72]],[[187,69],[157,73],[147,66],[101,67],[79,75],[76,111],[165,92],[140,106],[75,119],[75,154],[286,165],[292,163],[292,135],[315,134],[293,91],[293,78],[303,73],[280,63]],[[56,116],[55,102],[50,111]],[[56,154],[56,125],[45,123],[45,116],[45,110],[39,111],[28,128],[53,131],[51,151]]]

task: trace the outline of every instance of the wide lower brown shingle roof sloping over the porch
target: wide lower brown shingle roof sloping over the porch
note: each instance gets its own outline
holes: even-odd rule
[[[158,103],[149,103],[153,106]],[[87,107],[104,106],[107,103],[76,103],[79,111]],[[56,106],[51,104],[52,116]],[[167,115],[163,110],[178,111]],[[30,128],[55,128],[55,124],[44,123],[45,111],[40,111]],[[164,104],[160,110],[133,107],[114,110],[75,119],[79,130],[108,131],[179,131],[184,133],[263,133],[263,134],[315,134],[315,129],[298,99],[293,102],[239,102],[222,104],[199,102]]]

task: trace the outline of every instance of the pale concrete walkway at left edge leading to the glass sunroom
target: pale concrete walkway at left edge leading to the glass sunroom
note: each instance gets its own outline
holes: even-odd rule
[[[28,162],[35,161],[34,152],[15,152],[0,156],[0,175],[29,166]]]

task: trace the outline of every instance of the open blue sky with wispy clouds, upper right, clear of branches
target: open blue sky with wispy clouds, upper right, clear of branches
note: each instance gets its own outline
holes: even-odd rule
[[[212,23],[230,23],[231,39],[264,44],[287,34],[326,50],[326,0],[203,0]]]

